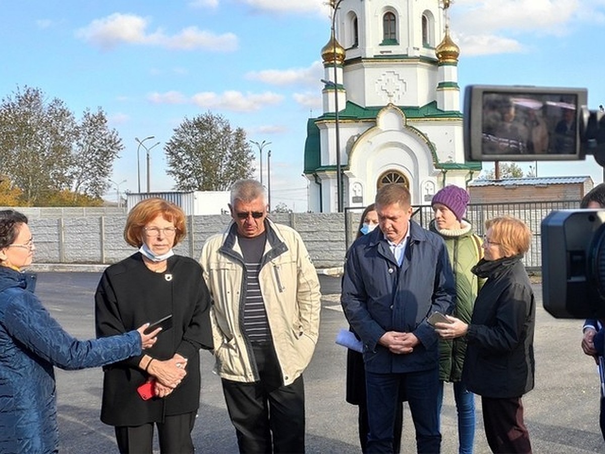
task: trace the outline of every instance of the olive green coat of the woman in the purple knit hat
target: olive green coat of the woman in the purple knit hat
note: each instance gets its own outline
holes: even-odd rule
[[[482,241],[465,220],[462,221],[462,228],[457,230],[439,230],[433,220],[430,230],[441,235],[445,241],[456,279],[456,306],[451,315],[471,323],[475,298],[483,285],[483,280],[474,275],[471,268],[483,257]],[[461,380],[465,353],[465,337],[439,340],[439,380]]]

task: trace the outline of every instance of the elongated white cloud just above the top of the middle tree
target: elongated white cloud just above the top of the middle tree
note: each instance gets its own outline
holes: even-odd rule
[[[265,93],[243,94],[240,91],[225,91],[223,94],[212,92],[197,93],[192,97],[193,102],[204,108],[223,109],[235,112],[255,112],[267,105],[280,104],[284,99],[281,94]]]

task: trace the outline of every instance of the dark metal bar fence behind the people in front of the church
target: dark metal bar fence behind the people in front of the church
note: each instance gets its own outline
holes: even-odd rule
[[[431,205],[414,206],[412,219],[428,228],[433,219]],[[512,215],[521,219],[532,231],[532,242],[527,254],[523,258],[526,268],[539,269],[541,267],[541,229],[542,220],[551,212],[561,209],[578,209],[578,200],[562,200],[555,202],[503,202],[503,203],[469,203],[465,219],[471,223],[477,235],[485,233],[485,221],[501,215]],[[359,217],[364,208],[345,209],[346,244],[350,246],[355,240]]]

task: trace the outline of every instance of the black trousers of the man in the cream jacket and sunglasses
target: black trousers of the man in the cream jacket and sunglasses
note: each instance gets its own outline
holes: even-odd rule
[[[240,453],[304,453],[302,376],[284,386],[273,344],[255,343],[253,352],[260,381],[222,380]]]

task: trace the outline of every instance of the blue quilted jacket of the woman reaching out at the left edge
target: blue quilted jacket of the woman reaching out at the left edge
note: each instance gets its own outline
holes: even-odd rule
[[[79,341],[33,294],[35,276],[0,266],[0,452],[59,450],[53,366],[83,369],[141,352],[140,335]]]

